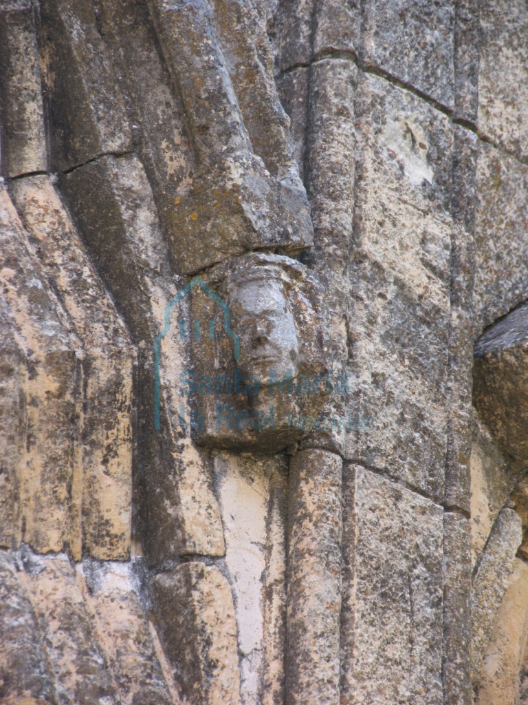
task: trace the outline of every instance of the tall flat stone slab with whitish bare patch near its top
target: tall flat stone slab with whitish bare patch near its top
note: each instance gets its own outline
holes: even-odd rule
[[[375,428],[349,436],[346,453],[440,498],[451,129],[445,116],[379,78],[363,78],[358,90],[350,401]]]

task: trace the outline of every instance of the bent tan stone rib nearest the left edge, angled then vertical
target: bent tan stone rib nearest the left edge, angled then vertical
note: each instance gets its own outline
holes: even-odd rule
[[[1,293],[27,357],[27,443],[20,477],[23,541],[80,557],[80,345],[32,259],[10,198],[0,189]]]

